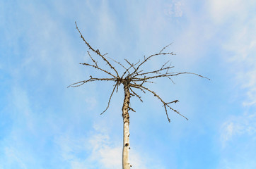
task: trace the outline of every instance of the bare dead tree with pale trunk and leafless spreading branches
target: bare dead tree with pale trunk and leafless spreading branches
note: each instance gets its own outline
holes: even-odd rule
[[[145,87],[144,84],[147,83],[153,83],[153,80],[156,78],[168,78],[171,80],[170,77],[178,76],[182,74],[192,74],[197,75],[199,77],[203,77],[208,79],[207,77],[204,77],[202,75],[196,74],[196,73],[189,73],[189,72],[169,72],[173,66],[171,66],[169,61],[164,63],[160,68],[157,70],[151,70],[148,72],[144,72],[144,70],[141,70],[141,65],[146,64],[151,58],[157,57],[157,56],[163,56],[163,55],[175,55],[173,52],[163,52],[170,44],[165,46],[161,51],[159,51],[157,54],[152,54],[151,56],[144,56],[142,61],[138,61],[137,63],[130,63],[127,59],[124,59],[124,61],[127,63],[127,66],[124,66],[124,64],[115,61],[112,58],[107,57],[107,54],[101,54],[98,49],[94,49],[87,41],[84,39],[83,35],[81,34],[80,30],[78,29],[78,26],[76,25],[76,30],[78,30],[79,34],[81,35],[81,39],[83,39],[83,42],[86,43],[88,46],[88,49],[93,51],[95,56],[98,57],[101,61],[105,62],[107,67],[109,67],[110,70],[107,70],[106,68],[101,67],[101,65],[98,64],[98,61],[93,58],[93,56],[90,54],[89,51],[87,51],[88,56],[91,58],[92,63],[80,63],[81,65],[86,65],[91,68],[95,68],[96,70],[99,70],[107,75],[107,77],[93,77],[90,75],[88,80],[82,80],[80,82],[75,82],[69,87],[79,87],[83,84],[86,84],[88,82],[96,82],[96,81],[110,81],[113,82],[113,89],[110,94],[110,98],[107,102],[107,107],[105,110],[101,113],[103,114],[105,111],[107,111],[107,108],[110,106],[110,101],[112,99],[112,96],[114,92],[118,91],[118,87],[122,84],[124,87],[124,102],[122,106],[122,118],[123,118],[123,149],[122,149],[122,168],[123,169],[129,169],[132,165],[129,163],[129,111],[134,111],[132,107],[129,106],[129,101],[132,96],[135,96],[139,99],[139,101],[142,102],[141,96],[139,96],[138,91],[141,92],[149,92],[153,94],[160,102],[163,104],[163,108],[165,109],[165,114],[170,122],[170,118],[168,117],[168,110],[173,111],[175,113],[178,113],[178,115],[181,115],[183,118],[188,120],[184,115],[182,115],[180,112],[172,108],[171,104],[176,104],[178,100],[175,101],[164,101],[161,96],[156,94],[152,89],[149,89],[148,87]],[[110,60],[112,62],[115,62],[115,64],[120,65],[122,68],[124,68],[124,71],[122,73],[118,72],[117,69],[110,63]],[[209,80],[209,79],[208,79]],[[135,112],[135,111],[134,111]]]

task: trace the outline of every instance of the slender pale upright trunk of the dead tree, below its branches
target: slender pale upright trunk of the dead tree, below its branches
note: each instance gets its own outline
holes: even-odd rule
[[[124,104],[122,106],[122,118],[124,122],[124,142],[123,142],[123,149],[122,149],[122,169],[130,169],[131,165],[129,163],[129,99],[130,99],[130,92],[128,84],[124,84]]]

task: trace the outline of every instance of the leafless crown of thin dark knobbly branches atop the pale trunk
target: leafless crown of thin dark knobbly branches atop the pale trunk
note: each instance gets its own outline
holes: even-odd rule
[[[147,57],[144,56],[144,59],[142,61],[139,60],[137,63],[131,63],[127,59],[124,59],[124,61],[126,63],[128,63],[128,66],[124,66],[124,64],[122,64],[118,61],[115,61],[115,59],[110,58],[110,57],[106,57],[105,56],[106,54],[103,54],[103,55],[100,54],[100,51],[98,49],[95,50],[86,41],[86,39],[84,39],[84,37],[81,34],[80,30],[78,29],[77,25],[76,25],[76,30],[78,30],[79,34],[81,35],[81,39],[83,39],[83,42],[86,43],[88,48],[91,51],[93,51],[93,53],[96,54],[96,56],[99,56],[100,59],[102,59],[110,67],[110,70],[115,71],[115,74],[113,74],[113,73],[111,73],[111,71],[108,71],[105,68],[101,68],[98,61],[95,58],[93,58],[93,56],[91,56],[89,51],[87,51],[88,56],[91,58],[91,61],[93,61],[93,64],[90,64],[90,63],[80,63],[80,64],[81,65],[86,65],[86,66],[91,67],[91,68],[95,68],[96,70],[100,70],[101,72],[104,72],[107,75],[110,75],[111,78],[105,78],[105,77],[95,78],[95,77],[90,76],[90,78],[88,80],[82,80],[80,82],[75,82],[75,83],[69,85],[69,87],[79,87],[83,84],[86,84],[87,82],[95,82],[95,81],[112,81],[112,82],[115,82],[115,84],[113,85],[112,92],[111,92],[110,97],[109,97],[108,102],[107,102],[107,107],[105,108],[103,113],[105,113],[105,111],[107,111],[107,109],[110,107],[111,99],[112,99],[112,96],[113,96],[115,90],[117,92],[118,87],[120,86],[120,84],[123,84],[124,86],[129,87],[130,95],[131,96],[136,96],[141,102],[143,102],[142,99],[141,99],[141,96],[134,89],[139,89],[141,92],[144,92],[144,93],[150,92],[151,94],[153,94],[153,96],[155,96],[163,104],[163,107],[165,108],[166,117],[168,118],[169,122],[170,122],[170,118],[168,116],[168,108],[170,109],[170,111],[174,111],[175,113],[178,113],[178,115],[181,115],[183,118],[187,119],[184,115],[180,114],[180,112],[178,112],[177,110],[175,110],[174,108],[172,108],[170,106],[170,104],[176,104],[178,102],[178,100],[165,102],[165,101],[163,101],[161,96],[159,96],[156,92],[149,89],[148,87],[144,87],[144,84],[154,83],[153,80],[155,80],[156,78],[160,78],[160,77],[161,78],[166,77],[166,78],[170,79],[173,82],[173,80],[170,77],[178,76],[178,75],[182,75],[182,74],[197,75],[198,77],[202,77],[202,78],[206,78],[206,79],[210,80],[208,77],[204,77],[204,76],[199,75],[197,73],[190,73],[190,72],[169,73],[169,70],[174,68],[174,66],[168,65],[169,61],[165,62],[157,70],[150,70],[148,72],[144,72],[144,70],[141,70],[141,65],[144,65],[146,62],[150,61],[151,58],[153,58],[153,57],[163,56],[163,55],[175,55],[175,54],[173,54],[173,52],[163,53],[163,51],[168,46],[170,46],[171,44],[168,44],[167,46],[163,47],[163,49],[161,49],[161,51],[159,51],[159,53],[157,53],[157,54],[152,54],[152,55],[147,56]],[[124,68],[124,71],[120,74],[120,75],[122,75],[121,77],[120,77],[119,73],[117,72],[117,70],[115,69],[115,67],[110,63],[110,61],[108,59],[114,61],[118,65],[121,65],[122,68]],[[134,109],[132,109],[130,107],[129,107],[129,110],[134,111]],[[100,113],[100,114],[103,114],[103,113]]]

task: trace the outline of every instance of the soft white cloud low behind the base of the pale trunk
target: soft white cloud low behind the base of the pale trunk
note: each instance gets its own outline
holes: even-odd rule
[[[94,125],[94,130],[88,137],[76,138],[68,135],[59,136],[55,139],[56,144],[60,147],[60,154],[64,161],[68,161],[71,168],[97,168],[118,169],[122,168],[122,145],[112,140],[108,134],[107,127]],[[87,152],[88,156],[78,156]],[[152,168],[163,166],[159,163],[152,165],[148,159],[144,159],[139,152],[132,150],[130,161],[133,168],[146,169],[147,166]]]

